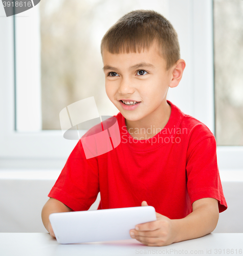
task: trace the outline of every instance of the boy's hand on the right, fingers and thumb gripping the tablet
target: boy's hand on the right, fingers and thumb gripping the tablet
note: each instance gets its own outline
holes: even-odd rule
[[[146,201],[142,206],[148,206]],[[147,246],[164,246],[175,242],[176,230],[171,219],[156,212],[156,221],[150,221],[136,225],[139,229],[130,229],[131,238]],[[132,233],[134,232],[134,236]]]

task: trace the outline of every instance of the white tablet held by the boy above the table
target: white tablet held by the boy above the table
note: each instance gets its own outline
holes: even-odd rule
[[[137,224],[156,221],[152,206],[50,214],[53,231],[60,244],[131,239],[129,230]]]

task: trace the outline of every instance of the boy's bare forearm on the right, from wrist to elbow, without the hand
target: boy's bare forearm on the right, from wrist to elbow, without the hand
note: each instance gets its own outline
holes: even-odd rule
[[[212,205],[204,204],[183,219],[172,220],[176,230],[176,240],[200,238],[211,233],[217,226],[219,213]]]

